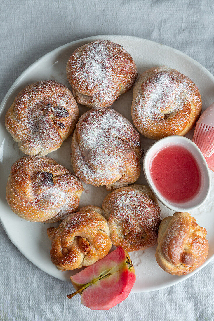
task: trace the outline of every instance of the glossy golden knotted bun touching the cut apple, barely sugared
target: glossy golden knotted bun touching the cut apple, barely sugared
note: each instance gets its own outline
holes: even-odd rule
[[[61,270],[92,265],[111,249],[108,223],[97,206],[85,206],[65,218],[58,229],[47,230],[51,240],[50,256]]]

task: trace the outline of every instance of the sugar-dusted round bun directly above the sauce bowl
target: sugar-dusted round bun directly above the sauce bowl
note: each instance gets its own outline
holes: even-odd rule
[[[133,89],[132,120],[151,139],[185,135],[201,114],[198,87],[183,74],[166,66],[142,73]]]

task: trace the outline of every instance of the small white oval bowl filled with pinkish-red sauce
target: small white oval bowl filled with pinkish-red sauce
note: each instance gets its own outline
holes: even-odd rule
[[[210,173],[200,149],[183,136],[168,136],[146,152],[143,171],[159,201],[176,212],[201,206],[210,193]]]

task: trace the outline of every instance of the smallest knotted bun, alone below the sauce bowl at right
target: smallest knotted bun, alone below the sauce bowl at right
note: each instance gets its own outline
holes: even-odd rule
[[[167,273],[183,275],[194,271],[207,258],[207,231],[190,213],[175,212],[163,219],[158,231],[156,260]]]

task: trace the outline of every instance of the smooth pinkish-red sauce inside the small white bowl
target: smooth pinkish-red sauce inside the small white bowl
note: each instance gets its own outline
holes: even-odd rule
[[[195,158],[186,148],[170,145],[158,151],[150,164],[157,191],[169,202],[191,200],[201,186],[201,173]]]

